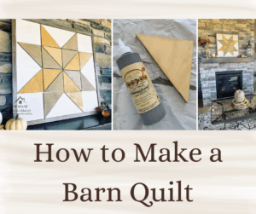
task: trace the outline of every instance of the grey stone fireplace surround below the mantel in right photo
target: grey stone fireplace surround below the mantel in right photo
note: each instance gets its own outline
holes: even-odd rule
[[[232,86],[233,90],[236,90],[236,88],[241,88],[245,94],[253,94],[253,58],[232,58],[232,62],[226,61],[226,59],[223,59],[222,61],[220,58],[210,59],[209,61],[203,59],[203,61],[200,61],[199,72],[203,107],[211,107],[212,100],[220,98],[218,95],[219,93],[217,93],[219,81],[216,81],[216,77],[219,73],[224,74],[226,72],[227,74],[231,75],[230,80],[234,81],[234,85]],[[241,72],[240,77],[237,76],[237,73],[239,72]],[[235,74],[233,78],[232,73]],[[224,89],[224,87],[222,88]],[[233,91],[230,89],[228,90],[229,91],[227,91],[226,96],[230,96],[233,93]]]

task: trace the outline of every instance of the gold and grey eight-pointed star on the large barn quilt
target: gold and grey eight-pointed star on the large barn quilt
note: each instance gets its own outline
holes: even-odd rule
[[[72,34],[73,36],[61,47],[46,30],[47,27],[40,25],[41,45],[17,41],[17,45],[41,68],[18,89],[18,95],[43,92],[44,119],[51,117],[51,110],[63,94],[67,95],[65,101],[72,101],[81,113],[84,113],[82,92],[96,91],[96,83],[93,83],[95,77],[90,78],[91,71],[86,71],[86,64],[89,61],[90,64],[91,61],[93,63],[93,55],[79,51],[78,33]],[[89,79],[85,77],[87,72],[90,72]],[[95,75],[94,68],[92,74]],[[63,101],[62,103],[65,104]]]

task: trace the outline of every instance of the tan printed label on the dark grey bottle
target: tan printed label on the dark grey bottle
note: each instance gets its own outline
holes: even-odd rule
[[[160,105],[160,97],[154,89],[143,62],[124,67],[120,72],[138,113],[147,113]]]

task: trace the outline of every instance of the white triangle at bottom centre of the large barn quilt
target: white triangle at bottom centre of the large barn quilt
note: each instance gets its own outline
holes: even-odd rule
[[[81,109],[70,100],[70,98],[64,93],[61,98],[56,102],[55,107],[51,109],[46,119],[61,117],[64,115],[83,113]]]

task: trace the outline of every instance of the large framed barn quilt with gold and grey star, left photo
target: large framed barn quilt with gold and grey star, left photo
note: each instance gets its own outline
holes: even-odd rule
[[[94,36],[47,20],[12,20],[13,114],[28,125],[96,114]]]

